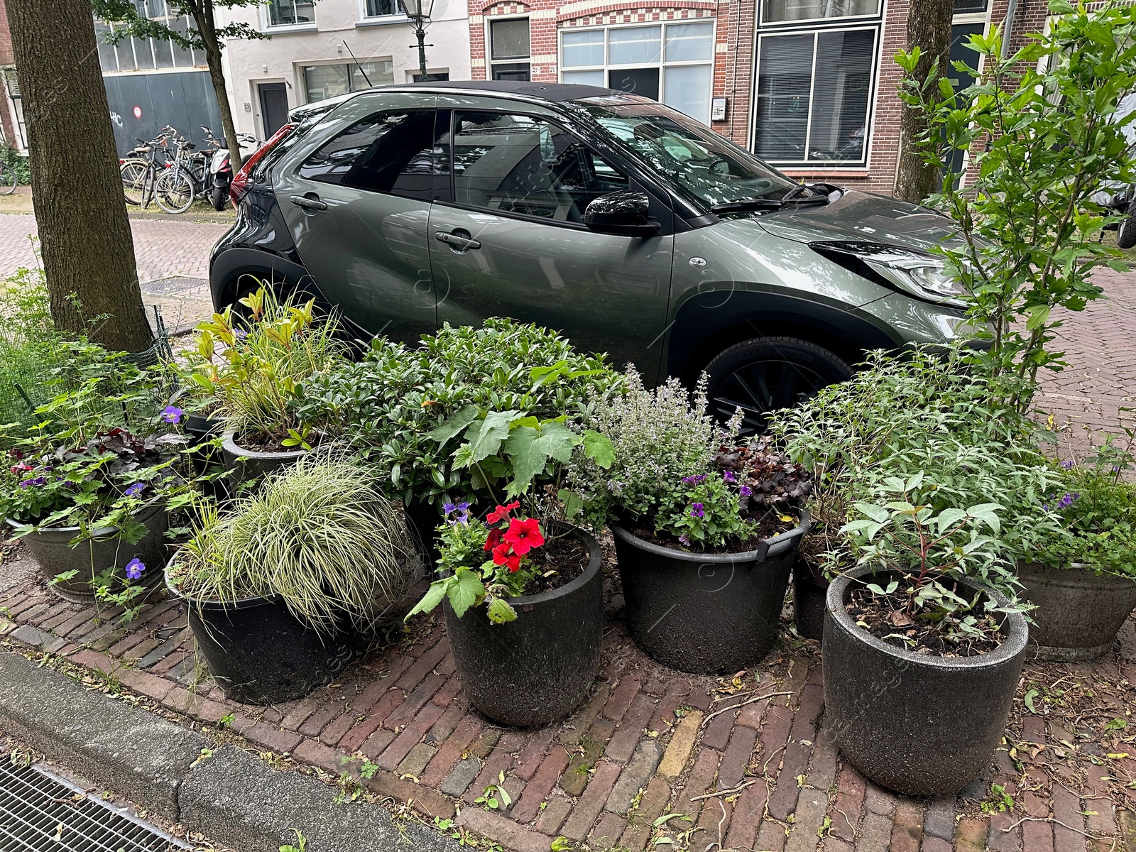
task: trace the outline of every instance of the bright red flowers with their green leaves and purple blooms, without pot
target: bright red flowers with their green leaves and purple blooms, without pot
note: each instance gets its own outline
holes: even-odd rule
[[[517,611],[507,598],[519,598],[536,576],[533,551],[544,545],[536,518],[516,517],[519,501],[498,506],[485,520],[473,517],[469,503],[446,503],[440,526],[438,573],[423,599],[407,613],[431,612],[443,599],[461,618],[470,607],[485,604],[494,624],[512,621]]]

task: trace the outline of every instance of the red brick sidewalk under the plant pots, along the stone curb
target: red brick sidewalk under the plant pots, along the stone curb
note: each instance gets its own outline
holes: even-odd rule
[[[228,702],[202,679],[176,603],[159,601],[122,628],[112,613],[100,620],[52,596],[30,561],[0,569],[0,587],[9,585],[0,592],[9,646],[109,673],[186,724],[232,715],[233,732],[284,763],[335,777],[348,755],[366,758],[378,767],[364,782],[373,792],[411,802],[427,821],[460,808],[458,826],[516,852],[549,852],[557,836],[627,852],[652,836],[674,840],[652,849],[700,852],[1104,852],[1125,849],[1122,834],[1136,844],[1136,749],[1113,721],[1136,705],[1131,619],[1095,663],[1027,665],[987,775],[958,799],[921,800],[894,796],[843,763],[825,735],[819,646],[787,623],[766,660],[716,679],[653,663],[609,612],[591,700],[566,722],[509,730],[469,710],[440,624],[424,621],[307,699],[265,709]],[[501,772],[511,807],[475,804]],[[996,811],[992,784],[1013,797],[1011,810],[984,811],[983,802]],[[666,813],[683,817],[654,828]]]

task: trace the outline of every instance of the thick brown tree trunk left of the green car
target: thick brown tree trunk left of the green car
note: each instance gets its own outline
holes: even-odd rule
[[[89,0],[8,0],[51,300],[66,332],[114,350],[153,343],[123,200]],[[74,296],[77,298],[76,304]]]

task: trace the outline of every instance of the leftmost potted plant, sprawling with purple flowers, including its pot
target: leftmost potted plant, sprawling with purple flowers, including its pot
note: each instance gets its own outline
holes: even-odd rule
[[[176,470],[184,440],[162,431],[177,410],[154,415],[153,375],[122,353],[66,345],[61,393],[36,409],[0,474],[0,516],[56,594],[118,603],[130,618],[165,562],[167,512],[189,499]]]

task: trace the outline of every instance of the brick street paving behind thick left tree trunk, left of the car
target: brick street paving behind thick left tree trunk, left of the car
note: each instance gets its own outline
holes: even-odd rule
[[[223,223],[131,218],[143,301],[160,307],[168,328],[191,326],[212,311],[209,251],[227,228]],[[35,235],[34,216],[0,216],[0,278],[39,262]]]

